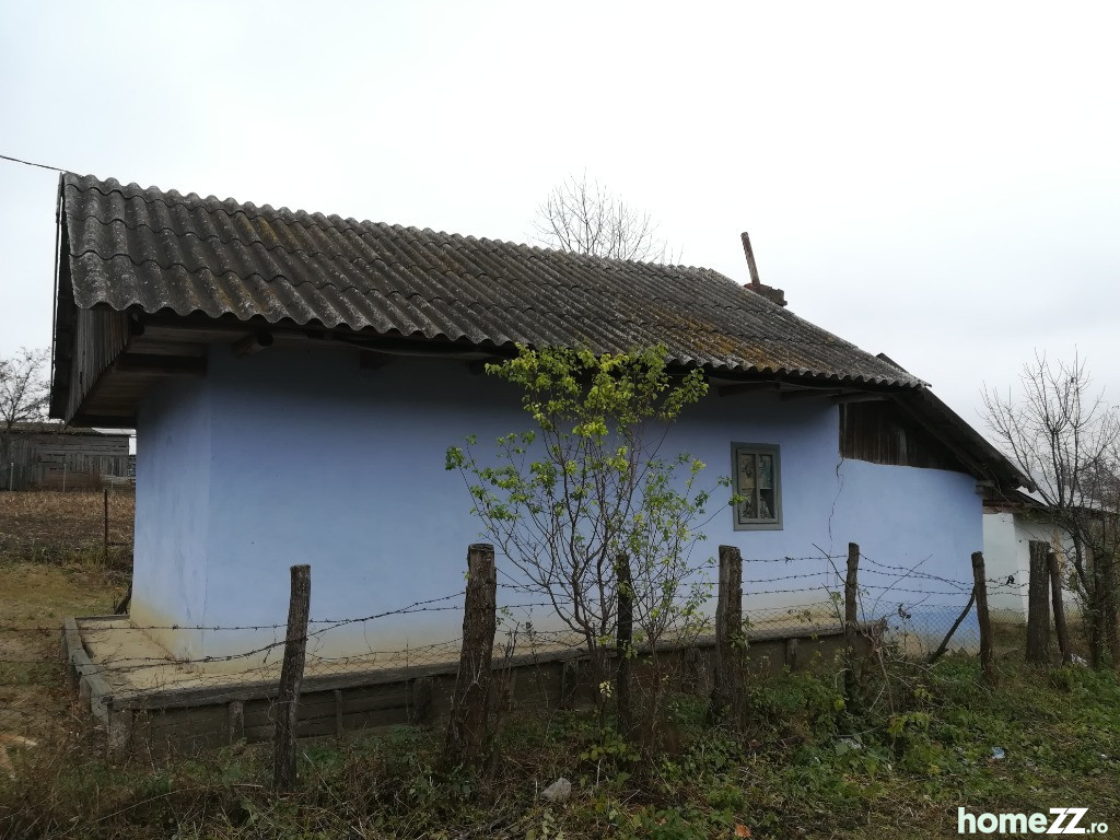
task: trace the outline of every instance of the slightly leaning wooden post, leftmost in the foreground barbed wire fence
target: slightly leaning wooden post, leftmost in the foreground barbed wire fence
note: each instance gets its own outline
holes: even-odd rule
[[[284,637],[280,691],[276,706],[276,752],[272,784],[278,792],[296,790],[296,712],[307,660],[307,623],[311,607],[311,567],[291,567],[288,635]]]

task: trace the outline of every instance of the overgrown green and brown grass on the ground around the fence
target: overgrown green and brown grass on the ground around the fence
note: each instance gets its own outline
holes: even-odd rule
[[[68,503],[26,503],[22,521],[41,529],[39,544],[58,550],[0,556],[0,624],[53,627],[67,614],[105,612],[123,591],[119,572],[68,553],[65,536],[50,533],[46,508],[62,531],[84,522],[87,500],[73,503],[73,515]],[[18,529],[0,520],[0,531]],[[304,743],[299,787],[284,796],[269,790],[265,747],[110,766],[60,688],[56,633],[0,633],[4,644],[11,638],[24,647],[0,659],[39,662],[0,671],[0,734],[15,720],[16,734],[40,744],[12,750],[16,781],[0,774],[4,840],[685,840],[748,831],[886,840],[954,837],[960,806],[973,814],[1082,806],[1086,821],[1120,824],[1120,679],[1028,668],[1010,636],[1001,637],[998,685],[983,683],[969,656],[932,668],[895,660],[868,678],[858,713],[831,663],[755,683],[741,735],[707,725],[702,700],[681,696],[655,743],[623,739],[590,712],[514,712],[501,720],[480,773],[441,766],[439,728]],[[13,703],[35,715],[4,717]],[[561,776],[573,784],[571,799],[543,802],[540,792]]]

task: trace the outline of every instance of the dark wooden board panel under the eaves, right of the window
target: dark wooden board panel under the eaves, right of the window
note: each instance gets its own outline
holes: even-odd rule
[[[840,405],[840,455],[872,464],[969,472],[948,446],[890,400]]]

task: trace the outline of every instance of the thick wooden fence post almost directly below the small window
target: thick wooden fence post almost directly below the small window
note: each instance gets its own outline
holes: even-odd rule
[[[743,637],[743,556],[734,545],[719,547],[719,589],[716,600],[716,674],[709,717],[730,715],[738,726],[746,715]]]

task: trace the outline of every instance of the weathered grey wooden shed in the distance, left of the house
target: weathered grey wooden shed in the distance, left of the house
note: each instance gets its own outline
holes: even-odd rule
[[[62,423],[15,423],[0,430],[8,457],[0,487],[22,489],[91,489],[110,479],[128,480],[129,433]]]

